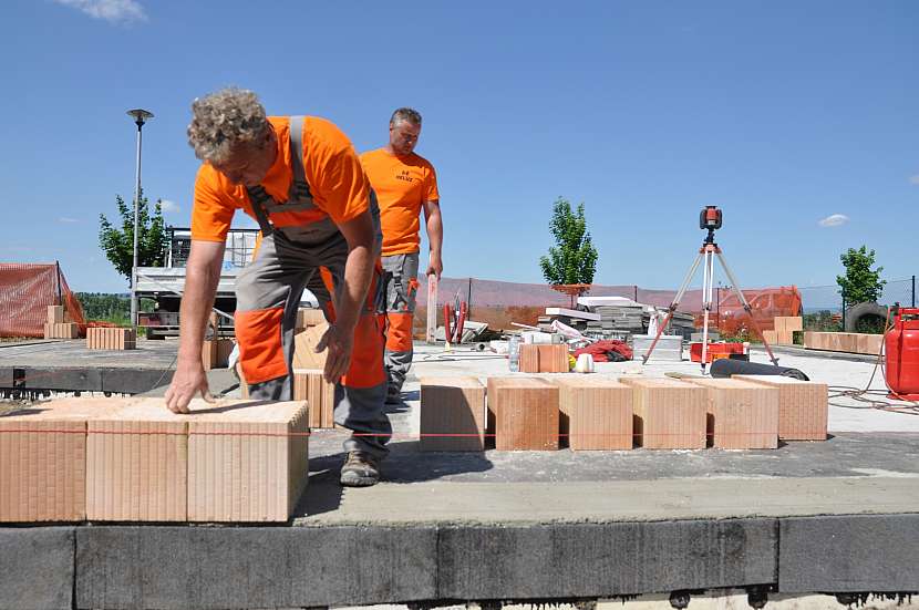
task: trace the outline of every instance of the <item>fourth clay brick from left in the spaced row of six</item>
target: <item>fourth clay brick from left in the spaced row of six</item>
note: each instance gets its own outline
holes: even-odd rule
[[[708,391],[670,378],[619,378],[633,390],[636,444],[649,449],[705,448]]]

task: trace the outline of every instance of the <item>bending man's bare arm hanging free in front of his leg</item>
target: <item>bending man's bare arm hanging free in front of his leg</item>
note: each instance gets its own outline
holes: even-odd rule
[[[338,225],[338,228],[348,241],[344,282],[334,296],[335,322],[316,347],[317,352],[329,350],[324,375],[330,383],[338,383],[351,364],[354,328],[364,307],[374,263],[380,257],[380,242],[370,210]]]

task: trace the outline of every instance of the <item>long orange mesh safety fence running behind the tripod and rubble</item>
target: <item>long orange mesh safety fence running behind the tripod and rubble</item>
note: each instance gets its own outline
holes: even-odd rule
[[[414,334],[424,337],[427,310],[427,278],[419,278],[421,288],[417,292]],[[437,300],[453,304],[455,296],[467,301],[472,313],[471,320],[485,322],[493,329],[509,330],[512,322],[536,324],[547,307],[569,308],[570,297],[553,290],[545,283],[518,283],[476,278],[442,277],[437,286]],[[754,319],[761,330],[773,329],[773,318],[802,314],[801,292],[795,286],[757,288],[743,291],[751,307]],[[677,297],[675,290],[651,290],[638,286],[592,285],[588,297],[624,297],[642,304],[667,308]],[[716,288],[712,294],[711,328],[722,332],[736,332],[741,328],[752,329],[750,318],[733,290]],[[698,327],[702,325],[702,290],[688,290],[680,302],[678,311],[695,317]],[[443,323],[438,308],[438,323]]]

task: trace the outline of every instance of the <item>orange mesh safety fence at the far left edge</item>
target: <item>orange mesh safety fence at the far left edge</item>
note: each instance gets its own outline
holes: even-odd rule
[[[0,337],[44,337],[49,306],[64,306],[85,334],[86,320],[56,262],[0,262]]]

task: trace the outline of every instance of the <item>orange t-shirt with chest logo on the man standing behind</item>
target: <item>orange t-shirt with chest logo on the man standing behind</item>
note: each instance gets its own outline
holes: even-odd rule
[[[380,204],[383,256],[417,252],[421,206],[441,198],[434,166],[414,153],[397,156],[385,148],[362,154],[361,164]]]

